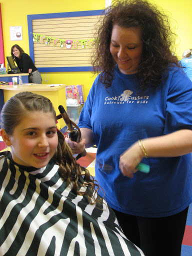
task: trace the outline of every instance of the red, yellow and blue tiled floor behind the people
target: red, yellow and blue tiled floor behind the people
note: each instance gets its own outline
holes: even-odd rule
[[[0,150],[3,149],[6,149],[6,146],[0,137]],[[77,161],[80,165],[86,167],[90,174],[94,176],[96,148],[86,148],[86,152],[86,156],[79,158]],[[192,256],[192,203],[189,205],[186,227],[182,241],[181,256]]]

